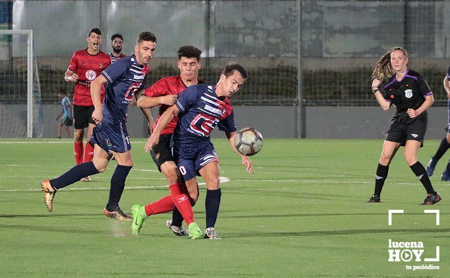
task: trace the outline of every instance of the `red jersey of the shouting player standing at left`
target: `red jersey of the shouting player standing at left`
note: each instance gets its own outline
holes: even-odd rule
[[[87,49],[84,49],[73,54],[69,70],[74,71],[79,77],[75,83],[73,94],[74,105],[94,105],[91,98],[91,83],[109,65],[111,65],[111,58],[101,51],[96,55],[91,55],[87,53]],[[102,101],[104,95],[105,90],[102,88]]]

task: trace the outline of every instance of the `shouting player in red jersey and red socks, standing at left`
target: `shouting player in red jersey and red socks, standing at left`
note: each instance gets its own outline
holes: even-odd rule
[[[89,142],[86,142],[86,147],[83,148],[84,129],[87,127],[87,138],[90,138],[95,127],[95,122],[92,119],[94,104],[91,98],[91,83],[111,64],[111,58],[100,51],[102,31],[99,28],[91,29],[87,34],[86,41],[87,49],[79,50],[73,54],[64,75],[67,82],[75,82],[73,94],[73,117],[75,120],[73,153],[77,165],[91,161],[94,156],[94,148]],[[102,90],[102,101],[104,94],[105,92]],[[89,181],[91,179],[87,176],[81,180]]]

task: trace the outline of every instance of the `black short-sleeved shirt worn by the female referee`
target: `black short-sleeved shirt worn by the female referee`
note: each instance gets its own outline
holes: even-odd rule
[[[418,109],[426,96],[433,95],[423,76],[408,69],[401,80],[393,75],[384,86],[384,98],[397,107],[396,114],[404,113],[409,108]]]

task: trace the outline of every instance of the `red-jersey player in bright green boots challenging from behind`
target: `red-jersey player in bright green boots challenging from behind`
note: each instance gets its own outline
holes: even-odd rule
[[[201,69],[200,55],[201,51],[192,46],[184,45],[179,48],[178,54],[178,69],[180,74],[176,76],[164,77],[158,80],[153,86],[147,88],[143,95],[138,100],[138,107],[141,109],[148,109],[151,107],[159,106],[158,122],[164,111],[172,106],[179,93],[185,90],[191,85],[203,83],[198,78],[198,72]],[[155,162],[158,170],[164,174],[168,184],[184,183],[183,178],[179,174],[178,168],[174,162],[170,150],[170,138],[172,137],[173,130],[178,122],[178,117],[174,118],[167,127],[161,132],[159,144],[154,147],[151,152],[153,161]],[[150,129],[153,126],[153,121],[149,121]],[[153,126],[154,128],[154,126]],[[189,195],[191,196],[191,204],[194,205],[198,196],[198,191],[191,190]],[[192,198],[194,196],[194,198]],[[148,204],[147,206],[134,205],[133,209],[135,214],[138,210],[141,210],[143,218],[147,218],[150,215],[164,213],[173,210],[173,217],[171,220],[167,220],[166,225],[177,236],[189,236],[189,232],[186,228],[182,227],[183,216],[179,213],[178,209],[174,206],[170,195],[163,197],[162,199]],[[134,223],[134,221],[133,221]],[[133,234],[139,234],[140,225],[133,225]]]

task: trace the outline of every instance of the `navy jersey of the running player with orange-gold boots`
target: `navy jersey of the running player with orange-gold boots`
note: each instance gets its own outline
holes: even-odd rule
[[[134,92],[144,88],[144,78],[148,72],[148,65],[138,64],[134,55],[122,58],[102,71],[108,80],[105,84],[103,116],[125,121],[128,104]]]

